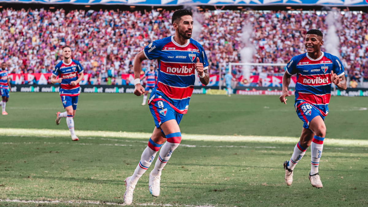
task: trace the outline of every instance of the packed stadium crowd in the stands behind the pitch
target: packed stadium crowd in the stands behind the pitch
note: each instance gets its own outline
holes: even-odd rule
[[[130,74],[135,54],[150,42],[174,34],[171,12],[4,8],[0,13],[0,59],[11,73],[51,72],[60,61],[61,48],[70,45],[73,59],[92,77]],[[287,63],[305,52],[308,29],[318,28],[326,35],[325,19],[326,13],[315,11],[206,10],[195,13],[194,20],[199,23],[192,38],[206,50],[209,73],[219,74],[229,62],[241,61],[244,47],[254,50],[250,62]],[[345,11],[336,21],[341,25],[337,28],[339,52],[348,77],[368,81],[367,13]],[[143,68],[152,63],[145,62]],[[273,75],[284,70],[270,66],[252,69],[254,75],[262,71]]]

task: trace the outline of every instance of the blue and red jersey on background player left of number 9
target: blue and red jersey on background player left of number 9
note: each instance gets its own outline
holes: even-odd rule
[[[60,61],[52,71],[53,76],[63,78],[60,83],[60,96],[78,96],[81,93],[79,83],[71,85],[71,81],[78,79],[79,73],[83,72],[82,65],[77,60],[71,60],[70,64]]]

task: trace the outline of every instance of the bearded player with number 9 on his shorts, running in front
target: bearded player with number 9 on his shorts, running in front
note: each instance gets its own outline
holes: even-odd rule
[[[187,113],[194,89],[194,70],[197,70],[202,84],[209,83],[206,53],[197,41],[191,39],[192,15],[190,10],[175,11],[171,20],[175,35],[152,42],[134,57],[134,94],[137,96],[145,92],[139,80],[142,61],[158,60],[158,80],[148,101],[156,127],[133,175],[125,179],[126,204],[132,203],[138,179],[161,148],[155,167],[149,174],[148,184],[152,196],[159,196],[162,169],[181,141],[179,123],[183,114]]]

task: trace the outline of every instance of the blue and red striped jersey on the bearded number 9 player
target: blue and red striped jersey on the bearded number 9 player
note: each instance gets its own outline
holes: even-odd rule
[[[189,100],[194,89],[195,68],[199,61],[204,70],[208,60],[201,44],[189,39],[185,45],[174,41],[174,36],[159,39],[144,48],[147,59],[158,61],[158,78],[150,101],[162,99],[181,114],[187,113]]]

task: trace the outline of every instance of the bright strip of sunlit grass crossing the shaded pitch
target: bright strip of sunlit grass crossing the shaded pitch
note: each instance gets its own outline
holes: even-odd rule
[[[20,137],[70,137],[68,130],[52,129],[16,129],[0,128],[2,136]],[[104,137],[104,138],[134,138],[148,140],[151,133],[126,132],[126,131],[86,131],[76,130],[75,133],[80,137]],[[225,141],[225,142],[253,142],[253,143],[296,143],[298,137],[274,137],[274,136],[226,136],[226,135],[204,135],[204,134],[185,134],[182,133],[183,140],[194,141]],[[333,139],[325,138],[324,142],[328,145],[367,147],[368,140]]]

